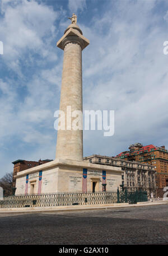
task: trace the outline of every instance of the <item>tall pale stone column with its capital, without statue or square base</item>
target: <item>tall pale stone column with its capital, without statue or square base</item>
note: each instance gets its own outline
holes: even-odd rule
[[[83,131],[72,129],[71,124],[76,117],[71,117],[71,114],[74,110],[82,113],[82,50],[88,44],[76,24],[69,25],[57,43],[64,50],[59,110],[64,111],[65,116],[65,130],[60,129],[57,133],[58,159],[83,161]],[[72,122],[67,122],[67,115]]]

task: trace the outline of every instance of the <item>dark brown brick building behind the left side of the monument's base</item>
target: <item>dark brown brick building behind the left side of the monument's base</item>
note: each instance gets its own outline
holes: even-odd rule
[[[16,179],[14,178],[15,175],[17,175],[17,173],[19,171],[24,171],[24,170],[27,170],[29,168],[32,168],[32,167],[35,167],[35,166],[38,166],[38,165],[43,165],[45,164],[46,162],[50,162],[50,161],[53,161],[53,160],[50,160],[50,159],[45,159],[45,160],[39,160],[38,162],[36,161],[26,161],[26,160],[16,160],[14,162],[12,162],[12,164],[14,165],[13,166],[13,182],[12,182],[12,188],[15,188],[15,185],[16,185]]]

